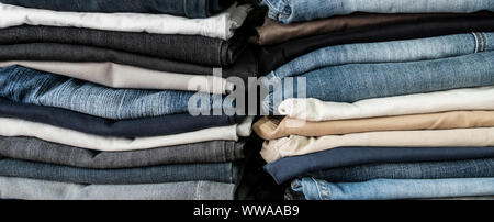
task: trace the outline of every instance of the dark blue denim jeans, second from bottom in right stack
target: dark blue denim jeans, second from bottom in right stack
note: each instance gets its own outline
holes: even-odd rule
[[[369,164],[317,170],[304,176],[334,182],[371,179],[446,179],[494,177],[494,158],[456,162]]]

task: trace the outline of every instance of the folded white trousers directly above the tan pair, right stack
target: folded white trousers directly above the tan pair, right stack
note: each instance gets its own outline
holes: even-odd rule
[[[494,87],[385,97],[361,100],[355,103],[326,102],[317,99],[288,99],[279,107],[279,112],[282,115],[308,121],[379,118],[460,110],[494,110]]]

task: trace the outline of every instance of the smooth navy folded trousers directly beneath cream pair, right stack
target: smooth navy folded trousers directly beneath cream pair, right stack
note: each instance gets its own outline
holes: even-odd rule
[[[316,170],[379,163],[493,158],[494,147],[340,147],[287,157],[265,166],[278,184]]]

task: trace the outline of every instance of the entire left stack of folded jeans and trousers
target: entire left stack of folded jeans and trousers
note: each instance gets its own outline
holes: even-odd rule
[[[0,2],[0,198],[234,198],[250,4]]]

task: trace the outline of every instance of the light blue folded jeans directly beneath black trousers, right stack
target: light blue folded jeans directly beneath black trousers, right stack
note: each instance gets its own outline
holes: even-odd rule
[[[271,71],[267,79],[299,76],[328,66],[431,60],[489,51],[494,51],[494,33],[329,46],[293,59]]]

